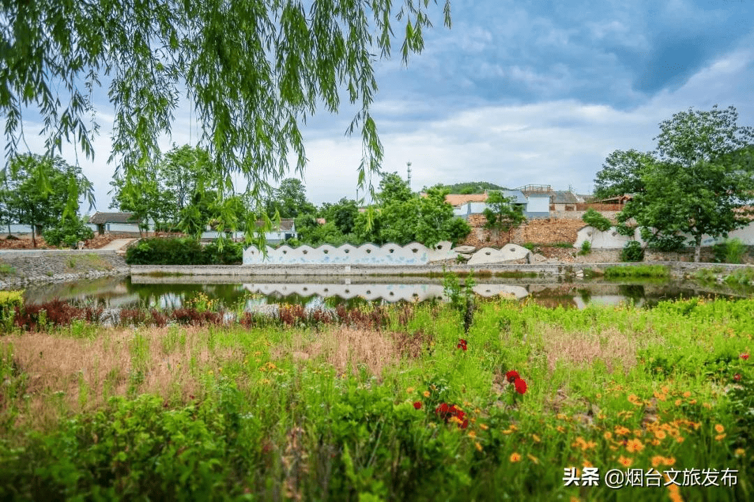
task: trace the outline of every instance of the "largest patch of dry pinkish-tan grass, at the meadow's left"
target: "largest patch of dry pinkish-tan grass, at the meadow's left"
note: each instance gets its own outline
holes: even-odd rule
[[[0,339],[0,349],[12,345],[15,364],[29,376],[26,412],[17,426],[46,428],[63,414],[96,409],[129,391],[184,401],[198,395],[202,368],[243,358],[240,351],[210,349],[206,328],[170,330],[100,330],[96,339],[49,333]]]

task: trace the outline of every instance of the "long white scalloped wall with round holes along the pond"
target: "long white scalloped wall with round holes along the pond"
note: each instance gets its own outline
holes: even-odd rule
[[[434,249],[418,242],[405,246],[363,244],[356,247],[344,244],[337,248],[327,244],[317,248],[282,245],[273,249],[267,246],[266,257],[258,248],[250,246],[244,251],[244,265],[425,265],[457,256],[447,241],[439,242]]]

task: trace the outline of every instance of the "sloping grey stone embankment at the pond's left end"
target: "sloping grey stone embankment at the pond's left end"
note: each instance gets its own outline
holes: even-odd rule
[[[0,251],[0,289],[129,274],[130,266],[112,250]]]

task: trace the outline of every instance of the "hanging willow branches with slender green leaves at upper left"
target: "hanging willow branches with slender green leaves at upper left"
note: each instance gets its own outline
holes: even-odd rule
[[[48,154],[75,141],[93,157],[93,90],[106,82],[113,109],[110,161],[138,178],[159,158],[182,95],[202,126],[213,176],[231,190],[241,173],[257,201],[269,180],[305,168],[300,125],[317,108],[357,105],[359,184],[382,145],[369,113],[374,63],[404,29],[403,62],[424,47],[430,3],[403,0],[0,0],[0,114],[8,155],[23,140],[24,114],[41,117]],[[443,8],[450,26],[450,5]],[[405,24],[404,24],[405,23]]]

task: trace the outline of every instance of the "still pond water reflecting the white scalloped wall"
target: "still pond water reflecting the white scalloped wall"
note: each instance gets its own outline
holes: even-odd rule
[[[210,282],[208,282],[210,281]],[[688,297],[746,297],[752,291],[733,291],[714,285],[685,281],[557,281],[556,278],[474,279],[474,292],[481,297],[505,295],[544,306],[583,309],[590,303],[618,305],[634,303],[654,306],[662,300]],[[238,278],[146,276],[100,278],[71,283],[45,284],[27,288],[27,303],[55,298],[106,308],[158,307],[176,309],[204,294],[226,306],[243,302],[247,309],[274,303],[302,306],[347,307],[364,303],[442,300],[442,279],[433,278],[342,278],[296,276],[272,281],[241,282]]]

